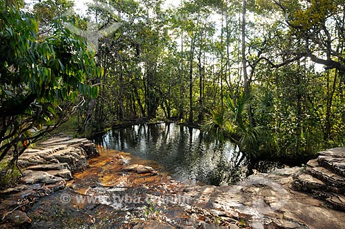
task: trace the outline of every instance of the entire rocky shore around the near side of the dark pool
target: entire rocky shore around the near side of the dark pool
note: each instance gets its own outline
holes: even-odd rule
[[[55,137],[20,157],[0,228],[345,228],[344,158],[326,150],[306,168],[190,186],[152,161]]]

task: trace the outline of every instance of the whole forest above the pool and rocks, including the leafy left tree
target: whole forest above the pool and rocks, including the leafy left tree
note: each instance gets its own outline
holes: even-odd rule
[[[344,146],[345,1],[75,4],[0,0],[0,161],[72,116],[197,125],[253,158]]]

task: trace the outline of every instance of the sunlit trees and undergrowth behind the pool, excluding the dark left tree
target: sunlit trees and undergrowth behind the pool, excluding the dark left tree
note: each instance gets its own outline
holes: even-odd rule
[[[95,128],[204,125],[248,155],[295,161],[344,144],[344,1],[107,1]],[[244,12],[244,14],[242,14]],[[91,112],[92,111],[92,112]]]

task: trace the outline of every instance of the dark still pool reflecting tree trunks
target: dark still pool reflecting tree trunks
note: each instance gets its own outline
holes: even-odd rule
[[[106,148],[156,161],[173,179],[186,183],[226,185],[246,177],[246,159],[233,143],[210,142],[200,130],[175,123],[134,125],[95,137]],[[265,163],[262,171],[277,168]]]

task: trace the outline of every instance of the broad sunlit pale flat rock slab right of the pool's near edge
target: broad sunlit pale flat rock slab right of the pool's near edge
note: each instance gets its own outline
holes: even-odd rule
[[[345,212],[327,208],[324,201],[289,188],[300,170],[252,175],[235,186],[187,188],[185,197],[195,199],[194,206],[247,215],[253,228],[345,228]],[[323,185],[310,175],[302,177],[315,186]]]

